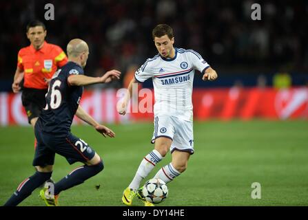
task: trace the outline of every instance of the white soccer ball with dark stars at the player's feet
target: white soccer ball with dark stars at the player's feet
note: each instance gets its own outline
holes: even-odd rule
[[[161,203],[168,196],[168,188],[161,179],[149,179],[143,186],[143,196],[150,203]]]

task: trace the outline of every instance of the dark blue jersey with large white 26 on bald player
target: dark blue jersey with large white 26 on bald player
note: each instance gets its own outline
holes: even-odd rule
[[[68,77],[83,74],[83,68],[73,62],[58,69],[52,77],[46,94],[46,107],[39,116],[41,130],[46,133],[66,135],[83,94],[82,86],[70,86]]]

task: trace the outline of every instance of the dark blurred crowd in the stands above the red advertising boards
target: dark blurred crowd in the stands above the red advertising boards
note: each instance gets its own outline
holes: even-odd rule
[[[308,1],[259,2],[260,21],[251,19],[250,0],[1,1],[0,80],[13,77],[31,19],[43,21],[47,41],[63,50],[70,39],[87,41],[92,76],[112,68],[125,75],[154,56],[158,23],[174,28],[175,47],[196,50],[216,69],[307,72]],[[44,19],[46,3],[54,5],[54,21]]]

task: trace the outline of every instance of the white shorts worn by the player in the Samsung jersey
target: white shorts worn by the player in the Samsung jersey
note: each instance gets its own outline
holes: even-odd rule
[[[167,137],[172,140],[170,152],[185,151],[194,153],[194,131],[192,122],[181,120],[170,115],[159,115],[154,118],[154,133],[152,144],[158,137]]]

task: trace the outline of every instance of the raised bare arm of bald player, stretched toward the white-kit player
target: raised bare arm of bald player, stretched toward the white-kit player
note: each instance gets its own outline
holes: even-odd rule
[[[120,79],[121,72],[116,69],[112,69],[106,72],[101,77],[91,77],[85,75],[70,75],[68,77],[68,83],[70,85],[83,86],[83,85],[92,85],[96,83],[109,83],[112,80]]]

